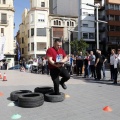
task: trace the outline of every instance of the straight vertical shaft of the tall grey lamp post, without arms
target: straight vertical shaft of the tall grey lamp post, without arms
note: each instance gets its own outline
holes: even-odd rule
[[[98,7],[96,7],[96,41],[97,41],[97,49],[99,49]]]

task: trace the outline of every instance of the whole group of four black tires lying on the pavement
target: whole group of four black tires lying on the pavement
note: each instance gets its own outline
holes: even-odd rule
[[[18,106],[33,108],[43,105],[47,102],[62,102],[65,94],[54,95],[53,87],[36,87],[34,92],[30,90],[16,90],[10,93],[10,99],[15,101]]]

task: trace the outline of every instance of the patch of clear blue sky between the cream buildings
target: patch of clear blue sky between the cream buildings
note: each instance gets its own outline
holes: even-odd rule
[[[25,8],[30,8],[30,0],[14,0],[14,8],[15,8],[15,14],[14,14],[14,23],[15,23],[15,29],[14,29],[14,36],[16,36],[17,31],[19,30],[19,25],[22,22],[22,13]]]

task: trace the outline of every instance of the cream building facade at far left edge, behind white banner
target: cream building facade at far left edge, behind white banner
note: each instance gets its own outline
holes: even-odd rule
[[[14,65],[14,0],[0,0],[0,36],[5,38],[4,56],[8,68]]]

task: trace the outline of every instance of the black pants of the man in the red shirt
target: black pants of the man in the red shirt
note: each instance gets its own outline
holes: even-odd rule
[[[55,94],[59,94],[59,83],[64,83],[70,79],[70,75],[64,67],[50,69],[50,76],[54,84]],[[62,77],[61,81],[59,81],[59,76]]]

